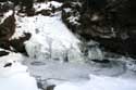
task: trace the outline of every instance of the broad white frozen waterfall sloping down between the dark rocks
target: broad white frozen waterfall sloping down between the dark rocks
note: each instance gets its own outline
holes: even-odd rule
[[[71,54],[70,51],[75,51],[76,55],[81,55],[79,40],[62,23],[60,15],[53,17],[44,15],[16,16],[16,25],[17,28],[12,39],[24,36],[24,33],[32,34],[30,39],[25,42],[29,57],[63,60],[64,55]],[[75,60],[72,59],[72,61]]]

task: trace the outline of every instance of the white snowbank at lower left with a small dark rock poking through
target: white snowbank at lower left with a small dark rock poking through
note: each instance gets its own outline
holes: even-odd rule
[[[35,78],[21,64],[21,59],[15,53],[0,57],[0,90],[38,90]]]

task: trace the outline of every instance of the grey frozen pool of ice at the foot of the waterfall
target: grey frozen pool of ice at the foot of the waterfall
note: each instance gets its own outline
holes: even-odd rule
[[[59,61],[24,61],[24,64],[28,66],[29,72],[35,77],[41,79],[54,78],[62,80],[87,80],[89,74],[106,75],[113,77],[135,77],[135,73],[128,72],[124,68],[123,64],[110,64],[104,67],[100,65],[89,65],[79,63],[62,63]],[[131,74],[132,73],[132,74]]]

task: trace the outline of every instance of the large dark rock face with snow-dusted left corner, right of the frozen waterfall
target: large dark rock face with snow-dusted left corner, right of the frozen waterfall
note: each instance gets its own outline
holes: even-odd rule
[[[134,0],[71,1],[62,7],[62,20],[82,39],[96,40],[107,51],[136,57],[135,4]]]

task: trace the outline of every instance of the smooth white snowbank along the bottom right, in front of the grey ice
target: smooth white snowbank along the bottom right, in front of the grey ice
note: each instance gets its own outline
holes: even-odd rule
[[[89,81],[64,82],[54,90],[136,90],[135,80],[90,75]]]

